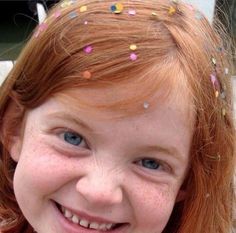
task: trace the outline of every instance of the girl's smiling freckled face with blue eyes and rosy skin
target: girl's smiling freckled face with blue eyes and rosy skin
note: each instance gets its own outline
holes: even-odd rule
[[[157,100],[143,115],[117,119],[78,107],[104,90],[67,94],[29,111],[11,148],[25,217],[38,233],[103,232],[111,223],[122,224],[107,232],[162,232],[188,170],[190,102]]]

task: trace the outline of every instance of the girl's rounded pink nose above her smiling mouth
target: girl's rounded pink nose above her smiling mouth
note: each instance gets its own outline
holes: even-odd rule
[[[116,205],[123,200],[123,191],[118,176],[119,174],[92,172],[78,180],[76,190],[90,204]]]

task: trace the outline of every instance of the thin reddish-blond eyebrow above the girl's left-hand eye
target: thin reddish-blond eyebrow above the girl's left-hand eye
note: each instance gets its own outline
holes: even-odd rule
[[[61,120],[68,120],[73,122],[76,125],[79,125],[80,127],[88,130],[88,131],[93,131],[90,126],[88,126],[83,120],[79,119],[78,117],[74,117],[73,115],[65,112],[55,112],[55,113],[50,113],[46,115],[47,117],[50,118],[58,118]]]

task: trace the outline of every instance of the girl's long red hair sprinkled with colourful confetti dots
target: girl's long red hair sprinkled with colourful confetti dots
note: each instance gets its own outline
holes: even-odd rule
[[[134,93],[128,99],[97,107],[137,114],[140,109],[130,106],[152,96],[159,88],[166,88],[167,95],[176,88],[177,93],[186,98],[191,95],[193,99],[196,119],[191,165],[183,184],[187,197],[174,207],[165,232],[228,233],[235,200],[235,130],[231,84],[225,72],[229,63],[219,33],[204,16],[182,3],[123,2],[125,10],[136,10],[135,16],[109,12],[112,4],[110,0],[81,0],[66,8],[58,4],[50,12],[46,28],[41,25],[39,34],[32,36],[1,87],[2,232],[33,232],[14,197],[12,180],[16,164],[7,151],[24,112],[69,88],[107,85],[123,88],[127,83],[127,92],[129,86],[136,85],[139,95]],[[80,12],[82,5],[88,10]],[[168,13],[171,5],[176,8],[172,15]],[[55,16],[58,10],[59,17]],[[69,17],[72,12],[78,16]],[[137,45],[136,61],[129,59],[130,44]],[[83,51],[86,45],[93,48],[89,56]],[[226,92],[224,98],[216,98],[210,80],[215,68],[212,58],[216,60],[219,83]],[[84,78],[84,71],[91,73],[90,79]],[[186,93],[183,86],[187,87]],[[7,114],[9,105],[15,108],[14,114]]]

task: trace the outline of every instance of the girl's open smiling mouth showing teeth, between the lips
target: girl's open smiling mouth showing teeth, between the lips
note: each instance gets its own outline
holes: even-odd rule
[[[71,210],[61,206],[56,203],[58,210],[61,214],[71,223],[79,225],[85,229],[96,230],[96,231],[105,231],[105,232],[116,232],[116,230],[121,230],[121,228],[129,225],[128,223],[111,223],[111,222],[96,222],[89,221],[83,217],[78,216],[73,213]]]

